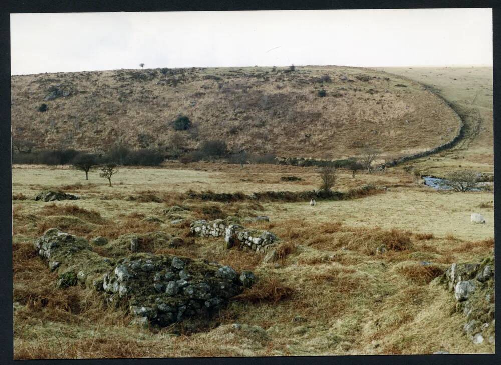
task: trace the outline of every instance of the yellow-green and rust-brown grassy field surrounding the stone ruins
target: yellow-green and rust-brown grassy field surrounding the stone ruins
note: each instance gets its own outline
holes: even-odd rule
[[[302,181],[281,182],[282,176]],[[453,262],[469,262],[493,248],[490,192],[437,192],[416,186],[399,170],[385,174],[340,172],[339,189],[374,183],[386,192],[346,201],[216,203],[183,199],[194,189],[236,192],[316,188],[313,168],[240,166],[199,163],[180,167],[124,168],[114,186],[69,168],[14,166],[14,300],[15,357],[170,357],[263,356],[492,352],[493,345],[474,345],[462,334],[462,314],[450,314],[453,296],[428,284]],[[77,201],[31,200],[43,187],[81,196]],[[152,200],[150,195],[159,198]],[[128,196],[145,197],[127,200]],[[480,208],[486,203],[487,207]],[[171,225],[163,209],[182,204],[188,219],[219,215],[242,218],[268,215],[268,229],[293,248],[275,263],[238,249],[225,250],[222,239],[197,238],[196,244],[157,253],[203,257],[251,269],[260,284],[233,300],[211,328],[173,336],[129,326],[123,312],[106,310],[97,297],[78,288],[56,289],[55,274],[32,252],[32,241],[52,226],[92,238],[187,228]],[[77,206],[78,208],[75,208]],[[218,209],[214,209],[214,207]],[[215,213],[214,213],[215,211]],[[90,212],[90,213],[89,213]],[[469,223],[481,212],[487,223]],[[213,215],[213,214],[217,214]],[[163,224],[143,223],[155,216]],[[72,218],[73,219],[69,219]],[[78,218],[78,219],[74,219]],[[393,230],[393,231],[392,231]],[[409,243],[401,251],[377,256],[371,244],[396,235]],[[386,237],[386,238],[385,238]],[[437,271],[420,266],[432,262]],[[34,280],[37,277],[37,280]],[[235,330],[231,324],[250,327]]]

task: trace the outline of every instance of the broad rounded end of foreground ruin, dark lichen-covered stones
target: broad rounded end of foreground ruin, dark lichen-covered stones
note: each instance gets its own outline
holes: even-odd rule
[[[145,264],[150,267],[146,271]],[[146,316],[160,326],[191,317],[208,317],[253,282],[252,273],[238,274],[229,266],[152,254],[121,259],[117,268],[103,277],[110,302],[119,302],[131,314]]]

